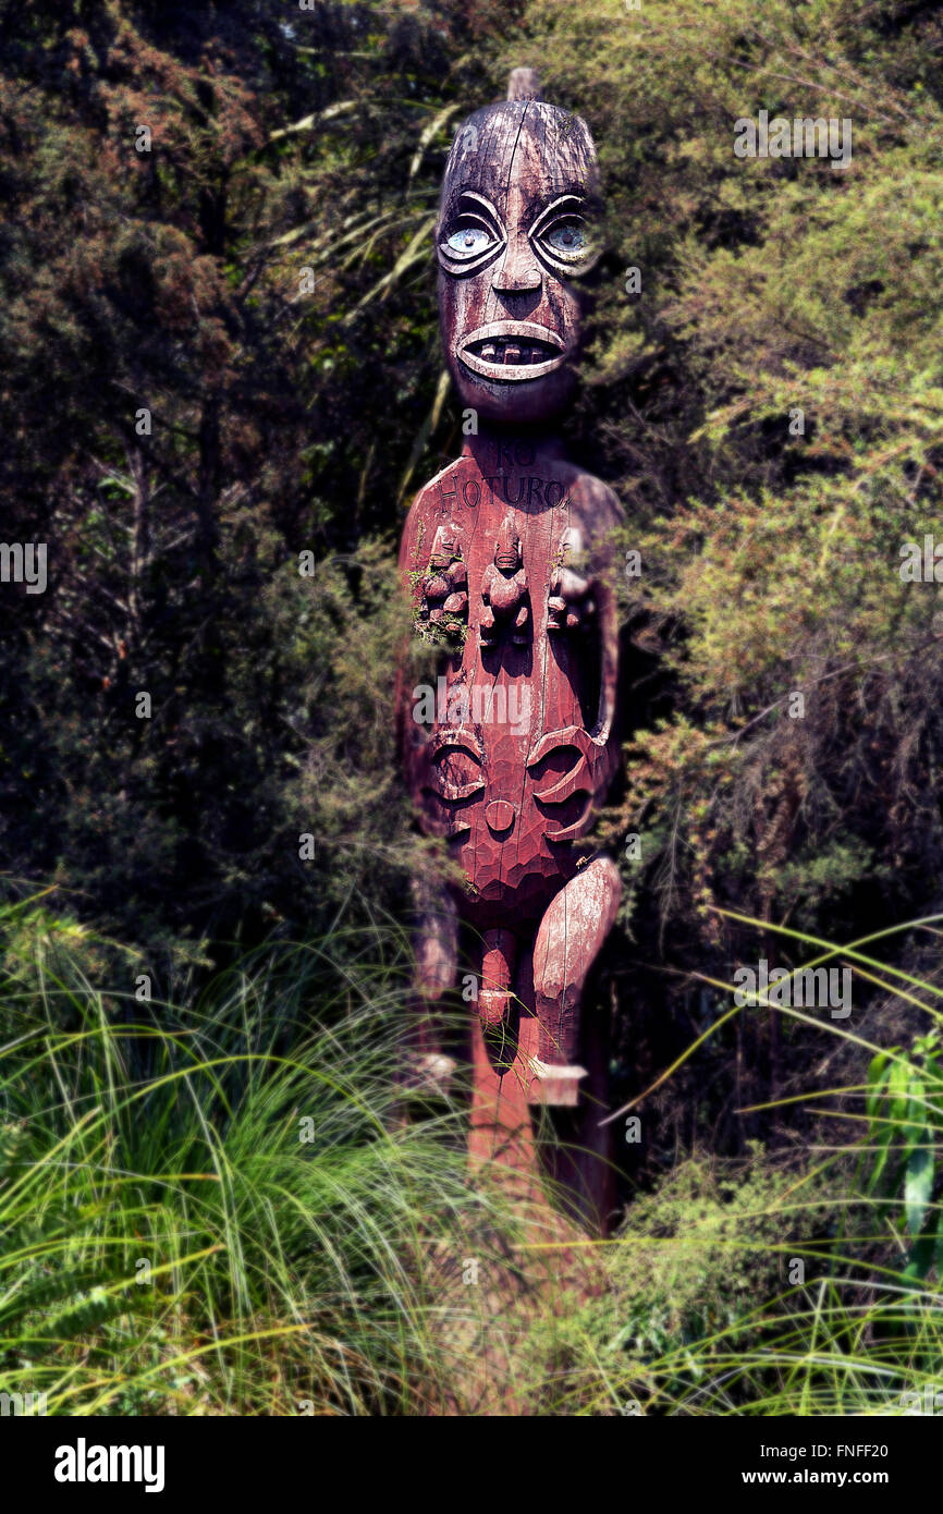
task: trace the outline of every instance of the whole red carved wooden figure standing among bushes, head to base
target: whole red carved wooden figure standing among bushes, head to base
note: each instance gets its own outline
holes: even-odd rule
[[[472,1160],[536,1178],[531,1107],[554,1107],[584,1151],[543,1161],[604,1223],[605,1057],[580,1001],[619,875],[580,842],[618,762],[610,537],[622,512],[556,433],[575,383],[596,197],[586,124],[540,101],[530,70],[459,130],[436,245],[445,356],[471,435],[416,497],[400,566],[416,628],[443,659],[436,689],[404,690],[406,769],[422,828],[448,837],[465,875],[442,896],[418,881],[412,1072],[431,1084],[453,1066],[436,1002],[454,987],[462,927],[480,966]]]

